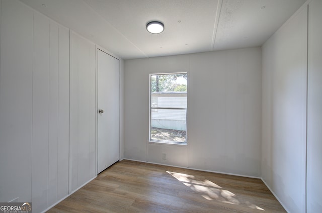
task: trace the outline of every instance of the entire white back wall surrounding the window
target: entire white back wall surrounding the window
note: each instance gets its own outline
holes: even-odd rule
[[[185,71],[188,146],[148,143],[149,73]],[[260,177],[261,77],[260,48],[126,60],[125,158]]]

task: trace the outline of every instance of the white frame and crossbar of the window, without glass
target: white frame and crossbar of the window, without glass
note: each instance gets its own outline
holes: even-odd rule
[[[151,107],[151,76],[152,75],[176,75],[176,74],[186,74],[187,75],[187,107],[186,108],[153,108],[153,109],[174,109],[174,110],[186,110],[186,141],[180,142],[180,141],[166,141],[166,140],[153,140],[151,139],[151,119],[152,119],[152,107]],[[149,135],[148,135],[148,142],[149,143],[157,143],[157,144],[169,144],[169,145],[188,145],[188,123],[187,123],[187,114],[188,114],[188,72],[170,72],[170,73],[150,73],[149,74]]]

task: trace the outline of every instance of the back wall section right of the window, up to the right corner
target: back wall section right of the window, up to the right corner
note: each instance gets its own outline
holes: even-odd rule
[[[260,177],[261,49],[202,53],[189,62],[189,166]]]

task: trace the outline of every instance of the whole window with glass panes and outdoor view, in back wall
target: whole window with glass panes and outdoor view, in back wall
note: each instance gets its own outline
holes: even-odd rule
[[[187,73],[150,74],[150,142],[187,144]]]

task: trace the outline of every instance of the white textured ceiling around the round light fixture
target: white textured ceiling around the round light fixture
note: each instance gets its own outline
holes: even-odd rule
[[[261,46],[305,0],[21,0],[123,59]],[[265,7],[265,8],[263,8]],[[161,21],[165,31],[145,25]]]

